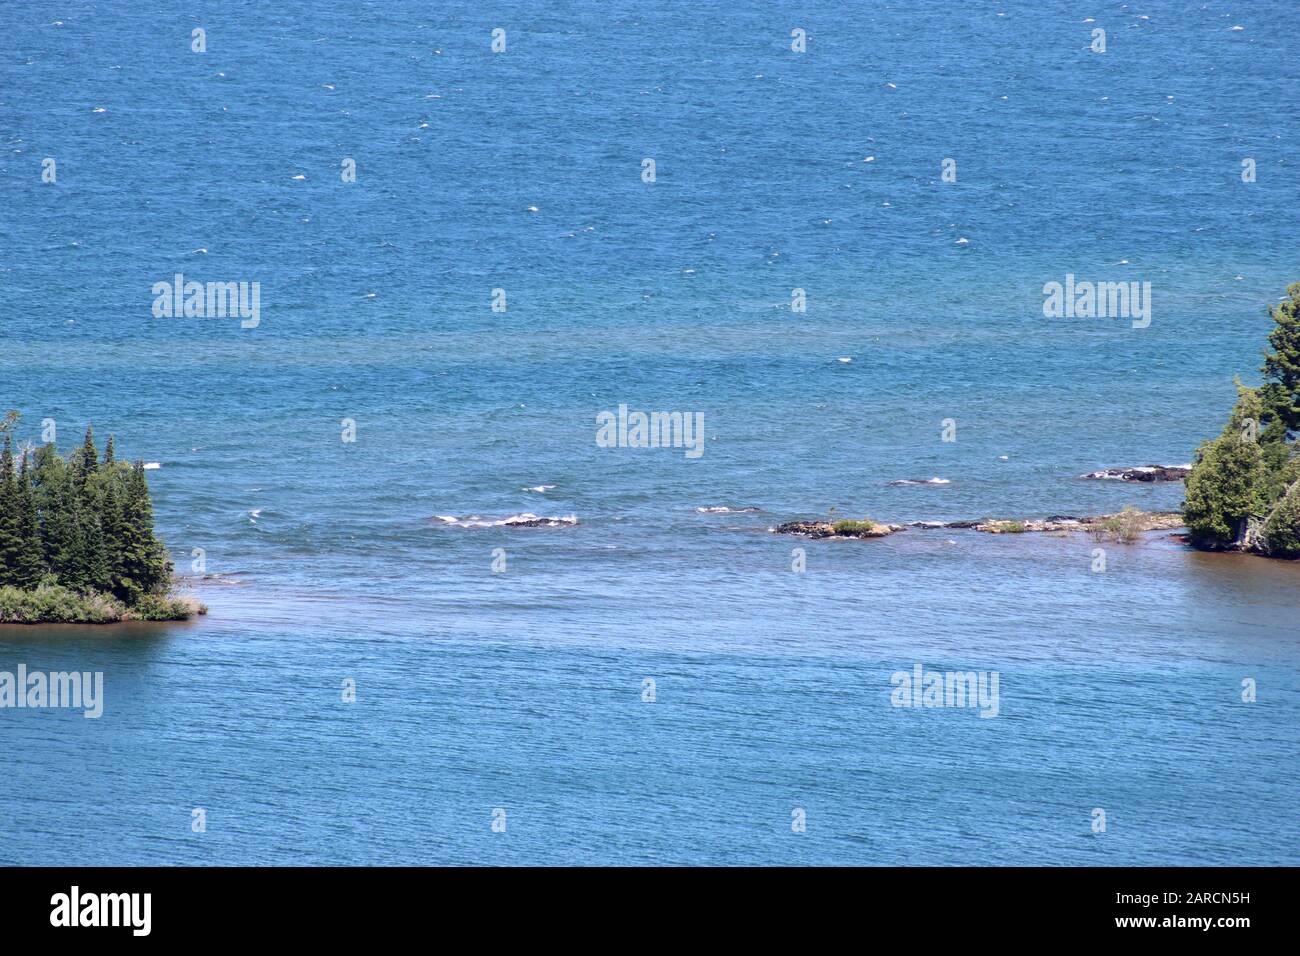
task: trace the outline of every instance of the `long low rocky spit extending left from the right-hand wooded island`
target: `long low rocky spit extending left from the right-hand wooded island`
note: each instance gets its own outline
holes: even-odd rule
[[[1131,537],[1147,531],[1174,531],[1183,527],[1179,511],[1127,510],[1112,515],[1050,515],[1048,518],[1002,519],[984,518],[970,522],[909,522],[889,524],[864,519],[861,522],[794,520],[772,528],[775,535],[801,535],[803,537],[887,537],[900,531],[980,531],[987,535],[1024,535],[1041,532],[1086,531],[1097,535]]]

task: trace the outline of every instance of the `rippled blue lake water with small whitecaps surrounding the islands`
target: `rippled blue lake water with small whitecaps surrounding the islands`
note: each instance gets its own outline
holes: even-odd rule
[[[1078,476],[1191,460],[1300,281],[1294,4],[916,7],[6,4],[0,406],[159,462],[211,614],[0,628],[105,675],[0,711],[0,862],[1300,862],[1300,566],[768,533],[1176,509]],[[260,325],[153,317],[178,272]],[[578,523],[436,519],[521,512]]]

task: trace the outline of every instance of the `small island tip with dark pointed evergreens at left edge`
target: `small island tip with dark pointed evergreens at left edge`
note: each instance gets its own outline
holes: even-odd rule
[[[53,444],[13,451],[0,421],[0,624],[185,620],[207,611],[172,593],[172,562],[153,533],[144,463],[118,460],[94,431],[65,460]]]

